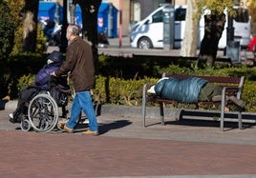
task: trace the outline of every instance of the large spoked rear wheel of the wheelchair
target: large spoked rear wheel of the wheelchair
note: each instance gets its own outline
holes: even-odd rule
[[[51,131],[58,121],[58,106],[52,96],[38,94],[30,102],[28,116],[35,131]]]

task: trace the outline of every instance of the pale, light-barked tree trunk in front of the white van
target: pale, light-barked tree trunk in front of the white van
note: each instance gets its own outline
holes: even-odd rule
[[[196,0],[187,2],[185,17],[185,31],[181,46],[181,56],[196,56],[198,46],[198,20],[193,18],[196,8]]]

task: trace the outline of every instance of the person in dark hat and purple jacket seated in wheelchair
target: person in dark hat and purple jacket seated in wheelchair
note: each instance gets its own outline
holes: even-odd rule
[[[20,91],[17,108],[9,114],[11,123],[21,123],[26,119],[29,102],[32,98],[42,90],[50,88],[51,73],[61,66],[63,54],[53,50],[47,59],[47,64],[37,72],[34,83]]]

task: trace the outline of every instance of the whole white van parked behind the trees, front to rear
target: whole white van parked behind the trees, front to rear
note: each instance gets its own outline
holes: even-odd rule
[[[159,9],[154,10],[145,19],[135,24],[130,33],[130,45],[133,48],[139,49],[162,49],[163,48],[163,9],[164,5]],[[238,10],[238,7],[235,7]],[[186,6],[175,7],[175,35],[174,35],[174,49],[181,48],[181,41],[185,30],[185,14]],[[219,49],[226,47],[226,27],[225,23],[222,38],[219,42]],[[250,40],[250,18],[248,10],[243,9],[239,11],[238,15],[233,20],[233,27],[235,28],[235,40],[240,40],[242,47],[246,47]],[[200,20],[199,24],[199,45],[203,39],[204,34],[204,20]]]

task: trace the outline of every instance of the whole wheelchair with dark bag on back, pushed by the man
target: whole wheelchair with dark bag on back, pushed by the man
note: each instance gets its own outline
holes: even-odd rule
[[[37,132],[48,132],[59,129],[59,108],[62,109],[62,118],[67,117],[67,106],[71,90],[67,76],[51,76],[48,89],[40,90],[29,103],[28,114],[20,123],[24,131],[33,129]]]

